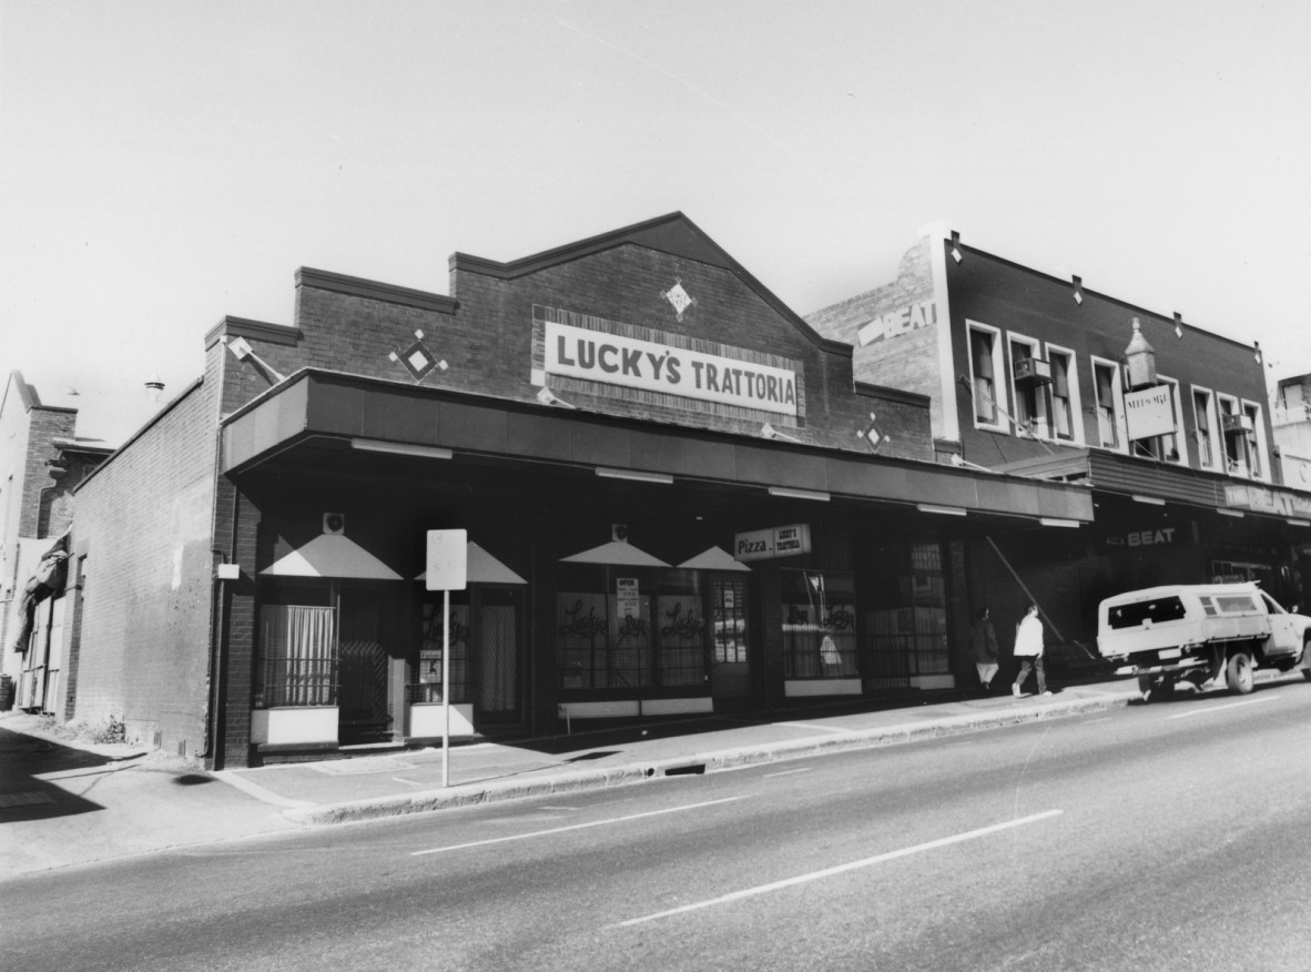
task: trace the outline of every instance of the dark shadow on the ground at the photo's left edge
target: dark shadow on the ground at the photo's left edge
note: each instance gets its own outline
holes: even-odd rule
[[[21,820],[49,820],[105,809],[42,777],[96,770],[122,762],[0,727],[0,826]]]

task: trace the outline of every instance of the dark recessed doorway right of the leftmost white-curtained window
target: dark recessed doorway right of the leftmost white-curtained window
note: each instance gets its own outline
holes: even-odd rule
[[[388,742],[392,739],[392,715],[387,707],[388,656],[383,607],[383,594],[379,590],[341,590],[337,640],[341,745]]]

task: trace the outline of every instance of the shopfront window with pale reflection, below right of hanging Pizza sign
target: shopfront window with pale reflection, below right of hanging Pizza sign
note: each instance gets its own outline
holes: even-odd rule
[[[839,678],[856,669],[856,598],[850,573],[780,571],[785,678]]]

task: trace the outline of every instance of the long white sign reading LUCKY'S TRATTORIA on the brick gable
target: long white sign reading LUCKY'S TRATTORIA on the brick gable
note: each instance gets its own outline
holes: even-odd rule
[[[797,375],[741,358],[545,323],[548,374],[797,415]]]

